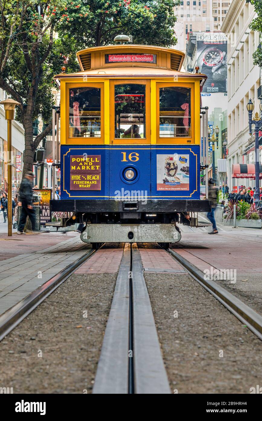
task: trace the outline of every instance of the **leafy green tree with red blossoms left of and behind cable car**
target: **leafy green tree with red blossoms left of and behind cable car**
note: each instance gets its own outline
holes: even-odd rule
[[[0,0],[0,88],[21,105],[16,119],[25,131],[24,171],[52,129],[52,80],[65,66],[79,69],[76,51],[107,45],[115,35],[133,43],[175,45],[174,7],[179,0]],[[47,127],[33,137],[42,114]]]

